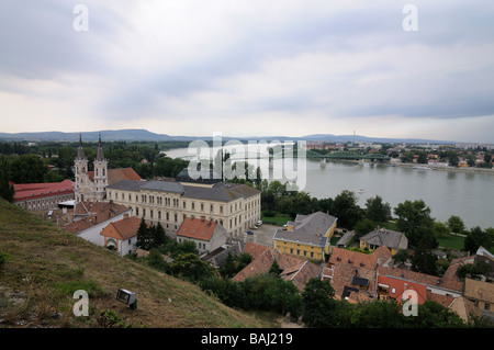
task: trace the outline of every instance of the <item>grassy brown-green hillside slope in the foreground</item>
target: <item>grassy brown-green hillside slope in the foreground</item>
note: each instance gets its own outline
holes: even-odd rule
[[[0,200],[0,327],[266,327],[193,284],[94,246]],[[137,309],[116,301],[124,287]],[[76,290],[89,293],[89,316],[76,317]]]

